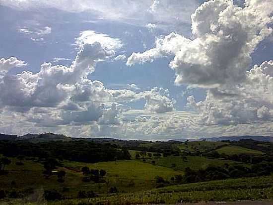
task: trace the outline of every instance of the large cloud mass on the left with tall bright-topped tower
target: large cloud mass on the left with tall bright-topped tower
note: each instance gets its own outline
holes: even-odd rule
[[[112,62],[123,46],[120,39],[94,31],[82,31],[75,45],[78,52],[70,66],[45,62],[35,74],[23,71],[8,75],[10,68],[25,66],[26,63],[15,57],[1,59],[1,114],[6,116],[13,113],[14,121],[22,123],[23,120],[25,126],[40,129],[55,127],[58,130],[59,126],[94,123],[96,127],[106,129],[107,126],[122,124],[122,112],[130,109],[127,105],[130,102],[146,101],[144,108],[149,112],[161,113],[174,108],[174,100],[170,100],[168,91],[162,88],[136,93],[139,89],[131,84],[135,91],[111,90],[105,88],[102,82],[87,78],[95,71],[98,62]],[[4,124],[10,123],[5,120]]]

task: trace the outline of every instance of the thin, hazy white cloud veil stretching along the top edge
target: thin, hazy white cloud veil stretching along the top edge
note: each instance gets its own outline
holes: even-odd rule
[[[178,24],[190,23],[190,15],[199,5],[199,1],[106,0],[101,3],[100,0],[92,0],[90,3],[88,0],[2,0],[1,4],[25,10],[56,8],[67,12],[88,12],[95,16],[95,20],[122,21],[143,27],[149,22],[158,22],[158,27],[173,30]]]

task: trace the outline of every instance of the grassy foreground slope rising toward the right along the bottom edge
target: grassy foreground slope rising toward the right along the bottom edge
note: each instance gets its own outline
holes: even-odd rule
[[[89,200],[66,200],[54,205],[79,203],[108,205],[175,204],[177,202],[273,199],[273,177],[218,180],[169,186],[131,194],[114,194]]]

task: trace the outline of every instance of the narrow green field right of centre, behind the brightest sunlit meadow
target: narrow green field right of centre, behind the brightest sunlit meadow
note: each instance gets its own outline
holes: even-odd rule
[[[148,160],[147,162],[150,162]],[[185,170],[186,167],[190,167],[193,170],[205,169],[208,165],[222,166],[224,164],[238,164],[239,162],[231,160],[220,160],[220,159],[208,159],[199,156],[187,156],[187,161],[183,161],[182,156],[168,156],[159,159],[154,159],[155,164],[164,167],[172,167],[172,164],[176,165],[176,169]],[[242,164],[242,163],[241,163]],[[174,167],[172,167],[174,168]]]

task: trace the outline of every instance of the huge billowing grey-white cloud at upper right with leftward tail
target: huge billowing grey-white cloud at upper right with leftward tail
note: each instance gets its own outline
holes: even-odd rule
[[[193,40],[177,33],[160,37],[154,48],[133,53],[127,65],[174,55],[169,66],[176,84],[215,88],[240,83],[251,54],[272,34],[272,11],[271,0],[247,0],[244,8],[231,0],[207,1],[192,14]]]

